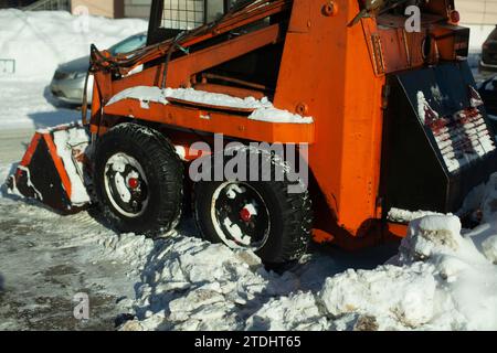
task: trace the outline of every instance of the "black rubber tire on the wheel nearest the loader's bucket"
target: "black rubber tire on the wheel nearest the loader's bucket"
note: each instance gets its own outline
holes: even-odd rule
[[[146,174],[150,200],[138,217],[117,211],[105,191],[105,165],[116,153],[135,158]],[[121,233],[156,237],[178,225],[183,197],[183,163],[160,132],[136,124],[118,125],[98,139],[94,157],[97,204],[110,226]]]

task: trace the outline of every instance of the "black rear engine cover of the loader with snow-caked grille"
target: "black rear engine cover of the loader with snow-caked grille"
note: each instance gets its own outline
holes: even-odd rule
[[[495,132],[467,63],[394,74],[387,89],[384,212],[458,212],[497,171]]]

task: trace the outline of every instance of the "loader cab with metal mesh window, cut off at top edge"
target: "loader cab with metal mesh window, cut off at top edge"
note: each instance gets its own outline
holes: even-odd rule
[[[234,0],[190,0],[181,4],[172,0],[152,0],[147,45],[214,21],[226,13],[232,3]]]

